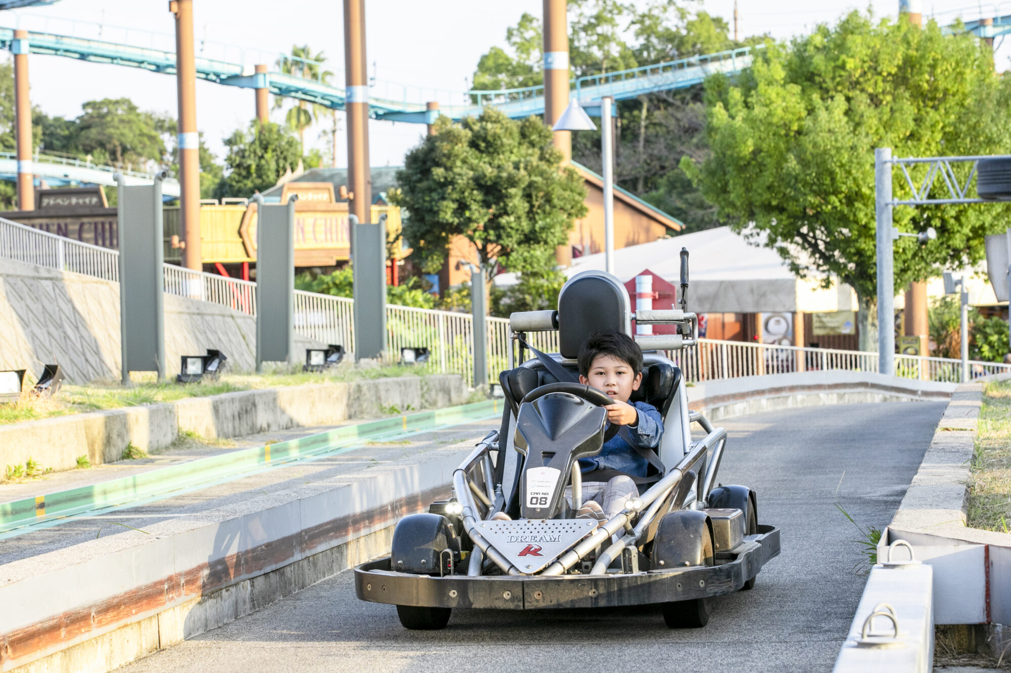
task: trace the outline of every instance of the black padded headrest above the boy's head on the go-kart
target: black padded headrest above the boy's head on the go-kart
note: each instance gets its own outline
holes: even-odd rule
[[[558,294],[558,352],[573,360],[590,334],[615,329],[632,335],[629,293],[621,281],[602,271],[583,271]]]

